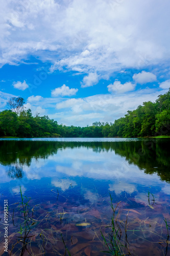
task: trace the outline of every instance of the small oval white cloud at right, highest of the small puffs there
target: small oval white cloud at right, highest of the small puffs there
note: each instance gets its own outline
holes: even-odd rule
[[[145,84],[147,82],[154,82],[157,80],[156,75],[150,72],[142,71],[141,73],[134,74],[133,79],[136,83]]]

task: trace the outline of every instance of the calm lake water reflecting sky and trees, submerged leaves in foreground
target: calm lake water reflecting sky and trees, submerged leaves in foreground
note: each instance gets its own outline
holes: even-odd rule
[[[115,216],[121,253],[170,255],[170,230],[165,224],[170,226],[169,142],[0,139],[0,255],[21,252],[21,242],[16,244],[24,222],[20,187],[22,195],[31,198],[33,237],[24,255],[64,255],[65,246],[70,255],[109,255],[102,252],[108,248],[101,231],[109,242],[110,195],[114,208],[120,202]],[[9,205],[8,254],[3,248],[4,200]]]

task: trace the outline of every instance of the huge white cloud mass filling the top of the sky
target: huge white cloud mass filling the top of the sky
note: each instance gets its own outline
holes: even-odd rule
[[[168,0],[2,1],[0,63],[17,64],[31,54],[51,61],[51,70],[95,70],[100,78],[161,65],[170,58],[170,28],[162,29],[169,7]]]

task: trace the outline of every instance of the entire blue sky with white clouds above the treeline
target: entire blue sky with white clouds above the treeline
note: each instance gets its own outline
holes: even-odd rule
[[[0,111],[113,122],[170,87],[169,0],[0,2]]]

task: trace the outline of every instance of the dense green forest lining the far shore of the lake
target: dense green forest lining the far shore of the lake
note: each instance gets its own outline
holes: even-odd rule
[[[170,89],[155,102],[143,102],[114,123],[66,126],[48,116],[33,116],[25,110],[23,98],[11,98],[10,110],[0,112],[0,136],[12,137],[147,137],[170,134]]]

